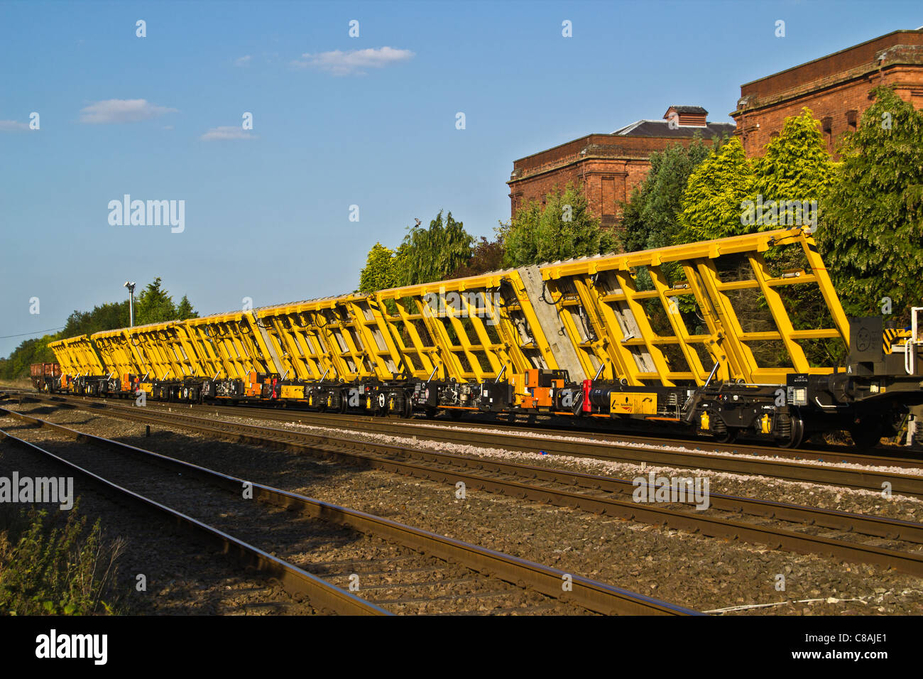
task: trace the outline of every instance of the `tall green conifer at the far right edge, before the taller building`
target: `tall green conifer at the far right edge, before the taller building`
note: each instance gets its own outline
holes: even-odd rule
[[[843,159],[821,202],[818,243],[846,313],[893,312],[907,321],[923,300],[923,114],[891,89],[839,149]]]

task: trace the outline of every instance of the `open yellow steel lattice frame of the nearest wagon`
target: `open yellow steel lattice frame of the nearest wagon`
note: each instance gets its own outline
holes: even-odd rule
[[[797,245],[803,250],[808,272],[773,277],[763,253],[769,249]],[[744,256],[752,272],[751,279],[722,281],[716,260],[724,255]],[[663,265],[677,262],[686,281],[670,286]],[[639,291],[636,274],[640,267],[650,273],[653,290]],[[849,332],[845,313],[833,290],[813,238],[801,229],[733,236],[718,240],[669,248],[556,262],[541,267],[542,277],[552,295],[565,333],[577,349],[586,376],[592,377],[599,366],[608,379],[625,379],[629,384],[659,382],[703,383],[713,363],[723,380],[785,383],[792,372],[827,374],[833,366],[811,367],[798,340],[839,338],[848,347]],[[795,330],[779,293],[790,285],[816,284],[830,310],[833,327]],[[774,330],[744,332],[731,297],[734,290],[757,290],[766,301]],[[677,296],[695,297],[707,333],[692,334],[678,311]],[[664,310],[672,335],[658,334],[645,309],[646,300],[655,300]],[[585,321],[578,322],[582,318]],[[592,329],[590,336],[585,328]],[[627,333],[629,323],[637,329]],[[791,360],[791,367],[761,367],[750,343],[779,341]],[[697,350],[697,345],[699,345]],[[671,350],[670,347],[676,347]],[[673,354],[669,358],[668,353]],[[712,363],[704,363],[703,356]],[[686,364],[677,370],[677,360]]]

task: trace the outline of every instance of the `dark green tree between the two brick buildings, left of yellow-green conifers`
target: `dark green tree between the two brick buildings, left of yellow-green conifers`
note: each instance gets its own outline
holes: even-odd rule
[[[619,241],[625,252],[674,245],[681,231],[680,201],[692,171],[709,155],[701,138],[651,153],[651,170],[622,207]]]

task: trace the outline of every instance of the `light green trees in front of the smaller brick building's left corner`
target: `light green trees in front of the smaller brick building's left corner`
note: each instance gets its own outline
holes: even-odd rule
[[[609,252],[616,238],[590,212],[580,187],[568,183],[563,193],[545,196],[545,206],[530,201],[498,229],[507,266],[567,260]]]

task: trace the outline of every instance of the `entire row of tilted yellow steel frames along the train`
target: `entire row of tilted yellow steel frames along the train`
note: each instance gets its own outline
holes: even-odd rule
[[[805,270],[773,274],[765,253],[788,246],[803,251]],[[744,278],[723,280],[720,258],[727,255],[749,267]],[[670,285],[667,264],[685,280]],[[639,289],[642,268],[650,274],[651,289]],[[501,371],[511,379],[531,368],[557,369],[549,339],[558,348],[564,339],[583,371],[572,379],[599,372],[636,386],[701,384],[715,363],[722,380],[785,383],[793,370],[833,371],[833,366],[810,366],[799,342],[838,338],[848,347],[848,322],[833,284],[814,240],[797,228],[555,262],[538,271],[545,284],[538,301],[530,299],[523,277],[532,277],[534,270],[510,270],[153,323],[61,340],[51,347],[62,370],[73,374],[140,376],[150,370],[158,380],[220,375],[245,380],[251,370],[279,370],[292,379],[326,375],[349,382],[406,374],[426,379],[435,371],[438,379],[482,382]],[[783,292],[806,284],[819,287],[831,327],[795,328]],[[764,300],[767,319],[755,326],[759,332],[744,330],[735,306],[738,291]],[[678,297],[695,299],[702,332],[689,332]],[[431,298],[438,305],[427,303]],[[559,323],[548,321],[545,309],[533,308],[545,303],[554,307],[550,318]],[[663,323],[659,333],[650,309]],[[543,327],[540,318],[552,327]],[[780,343],[790,365],[760,366],[753,345],[761,342]]]

